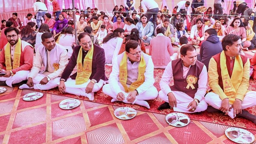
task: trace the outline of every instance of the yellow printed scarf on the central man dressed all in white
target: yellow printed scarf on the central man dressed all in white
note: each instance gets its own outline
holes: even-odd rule
[[[123,59],[120,63],[120,71],[119,71],[119,81],[122,84],[125,92],[133,91],[136,88],[138,88],[142,83],[145,81],[144,73],[146,71],[146,62],[143,58],[143,55],[141,55],[139,66],[138,66],[138,79],[136,82],[132,83],[130,85],[130,88],[127,87],[126,81],[127,81],[127,55],[126,53],[123,54]]]

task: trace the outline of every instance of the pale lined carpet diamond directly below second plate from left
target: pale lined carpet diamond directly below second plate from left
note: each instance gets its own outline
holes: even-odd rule
[[[46,106],[22,111],[16,114],[12,129],[46,120]]]

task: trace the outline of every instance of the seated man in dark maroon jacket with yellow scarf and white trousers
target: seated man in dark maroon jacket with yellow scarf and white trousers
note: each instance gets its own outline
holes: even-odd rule
[[[78,96],[94,99],[94,92],[100,90],[105,76],[105,53],[104,49],[93,44],[90,34],[81,33],[78,36],[79,44],[73,49],[68,65],[64,69],[60,82],[59,91]],[[77,72],[70,76],[77,65]]]

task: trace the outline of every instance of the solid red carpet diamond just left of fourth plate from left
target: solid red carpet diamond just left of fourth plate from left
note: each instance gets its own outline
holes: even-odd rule
[[[87,113],[91,123],[90,127],[113,120],[108,107],[98,108]]]

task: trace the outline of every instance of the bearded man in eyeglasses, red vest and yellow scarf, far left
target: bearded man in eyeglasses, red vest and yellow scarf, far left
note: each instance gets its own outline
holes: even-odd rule
[[[8,43],[0,54],[0,71],[6,73],[0,76],[0,85],[17,84],[27,80],[29,70],[33,65],[33,47],[20,39],[19,30],[15,27],[5,29]]]

